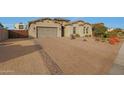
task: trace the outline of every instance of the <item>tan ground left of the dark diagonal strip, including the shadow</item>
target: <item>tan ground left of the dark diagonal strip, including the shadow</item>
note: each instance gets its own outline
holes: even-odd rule
[[[33,40],[0,42],[0,74],[50,74],[39,50]]]

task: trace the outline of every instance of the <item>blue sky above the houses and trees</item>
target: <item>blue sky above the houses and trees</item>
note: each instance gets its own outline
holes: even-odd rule
[[[38,19],[40,17],[0,17],[0,22],[9,29],[14,28],[15,23],[27,24],[29,21]],[[105,23],[109,28],[122,28],[124,29],[124,17],[65,17],[71,21],[83,20],[89,23]]]

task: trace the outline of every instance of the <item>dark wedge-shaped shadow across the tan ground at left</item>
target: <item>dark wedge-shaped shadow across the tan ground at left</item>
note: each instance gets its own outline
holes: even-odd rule
[[[2,45],[0,46],[0,63],[8,60],[30,54],[38,51],[39,45],[21,46],[21,45]]]

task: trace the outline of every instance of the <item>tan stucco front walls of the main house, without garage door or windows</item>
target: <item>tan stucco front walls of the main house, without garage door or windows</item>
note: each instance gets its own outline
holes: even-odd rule
[[[65,22],[64,24],[67,24]],[[83,25],[83,26],[80,26]],[[32,23],[29,27],[29,37],[37,37],[36,33],[36,27],[37,26],[43,26],[43,27],[57,27],[57,37],[61,37],[61,25],[58,23],[54,23],[51,20],[44,20],[43,22],[36,22]],[[84,24],[82,22],[78,22],[72,25],[67,25],[64,26],[64,37],[70,37],[71,34],[73,34],[73,27],[76,27],[76,34],[79,34],[81,37],[84,37],[86,35],[91,35],[92,36],[92,26],[89,24]],[[85,32],[84,34],[84,27],[89,28],[88,33]],[[35,28],[35,29],[34,29]]]

